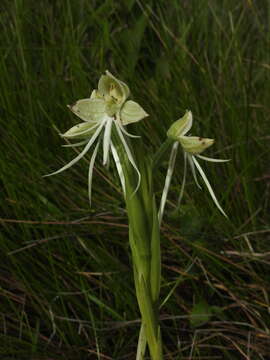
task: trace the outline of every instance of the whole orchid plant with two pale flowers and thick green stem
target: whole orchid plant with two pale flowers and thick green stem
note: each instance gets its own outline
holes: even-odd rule
[[[214,143],[213,139],[187,136],[193,123],[191,111],[187,111],[181,119],[171,125],[167,132],[167,140],[159,151],[151,157],[147,151],[144,151],[144,145],[139,139],[134,140],[132,143],[129,139],[139,138],[139,136],[130,134],[126,130],[126,126],[148,116],[138,103],[127,100],[129,95],[128,86],[114,77],[109,71],[106,71],[105,75],[100,77],[97,89],[92,91],[89,98],[78,100],[74,105],[68,106],[83,122],[61,134],[63,138],[68,140],[80,140],[64,146],[78,147],[85,145],[85,147],[68,164],[46,176],[59,174],[67,170],[77,163],[95,144],[88,171],[89,200],[91,203],[93,169],[101,144],[103,148],[103,165],[109,165],[109,155],[112,154],[127,207],[134,283],[142,316],[136,360],[144,359],[147,346],[152,360],[161,360],[163,359],[163,351],[158,321],[161,273],[160,224],[178,148],[180,145],[184,153],[184,175],[178,204],[180,204],[183,196],[187,162],[189,162],[196,184],[200,187],[196,175],[197,169],[214,203],[225,216],[226,214],[196,158],[211,162],[224,162],[227,160],[213,159],[201,155],[204,150]],[[172,147],[171,154],[158,211],[153,186],[153,173],[170,146]],[[134,174],[136,174],[136,180]]]

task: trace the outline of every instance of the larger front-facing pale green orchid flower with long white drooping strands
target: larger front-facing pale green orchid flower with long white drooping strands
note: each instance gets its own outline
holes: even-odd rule
[[[90,160],[88,172],[89,201],[91,204],[91,185],[94,163],[98,149],[102,143],[103,165],[106,166],[109,164],[109,153],[111,150],[114,162],[116,164],[116,169],[120,177],[123,192],[125,194],[125,179],[123,175],[123,169],[116,147],[113,144],[111,138],[112,128],[115,127],[118,138],[123,144],[126,155],[138,176],[137,186],[134,190],[134,192],[136,192],[140,186],[141,174],[138,170],[138,167],[136,166],[132,151],[126,141],[126,136],[138,136],[129,134],[126,131],[125,126],[130,123],[142,120],[148,116],[148,114],[139,104],[132,100],[127,100],[129,94],[130,90],[128,86],[114,77],[109,71],[106,71],[106,74],[100,77],[98,88],[92,91],[90,98],[78,100],[75,104],[68,105],[68,108],[76,116],[83,120],[83,122],[73,126],[67,132],[60,135],[66,139],[81,139],[82,141],[63,146],[76,147],[85,144],[86,146],[82,152],[68,164],[63,166],[61,169],[45,176],[56,175],[64,170],[67,170],[72,165],[77,163],[96,142],[96,146]]]

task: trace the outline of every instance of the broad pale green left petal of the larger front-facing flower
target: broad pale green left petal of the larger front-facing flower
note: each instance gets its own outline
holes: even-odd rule
[[[106,114],[106,103],[103,99],[92,98],[78,100],[68,108],[84,121],[101,122]]]

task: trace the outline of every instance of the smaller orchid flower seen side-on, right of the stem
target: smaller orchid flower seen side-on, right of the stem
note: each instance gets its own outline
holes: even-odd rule
[[[185,115],[182,118],[180,118],[179,120],[175,121],[171,125],[169,130],[167,131],[167,136],[170,139],[172,139],[174,141],[174,143],[172,146],[171,155],[170,155],[170,159],[169,159],[169,165],[168,165],[167,175],[166,175],[166,179],[165,179],[165,186],[164,186],[162,197],[161,197],[161,204],[160,204],[160,209],[159,209],[159,222],[160,223],[161,223],[162,217],[163,217],[163,212],[164,212],[165,203],[166,203],[166,199],[167,199],[167,195],[168,195],[168,191],[169,191],[169,187],[170,187],[170,183],[171,183],[172,174],[174,171],[175,160],[176,160],[176,155],[178,152],[179,144],[182,146],[182,150],[184,152],[184,175],[183,175],[182,186],[180,189],[180,195],[178,198],[178,206],[180,205],[180,202],[183,197],[184,187],[186,184],[187,162],[189,162],[189,165],[190,165],[191,171],[192,171],[192,175],[193,175],[196,185],[201,189],[201,186],[198,182],[197,174],[196,174],[196,170],[198,170],[215,205],[220,210],[220,212],[225,217],[227,217],[227,215],[225,214],[221,205],[219,204],[219,202],[215,196],[215,193],[214,193],[201,165],[199,164],[197,158],[200,158],[205,161],[210,161],[210,162],[226,162],[229,160],[213,159],[213,158],[209,158],[209,157],[200,155],[205,149],[207,149],[209,146],[213,145],[214,140],[208,139],[208,138],[201,138],[198,136],[187,136],[186,134],[191,129],[192,123],[193,123],[192,113],[191,113],[191,111],[187,111],[185,113]]]

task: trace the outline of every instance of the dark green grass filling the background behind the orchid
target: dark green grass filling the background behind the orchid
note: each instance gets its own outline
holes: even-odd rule
[[[135,129],[149,151],[191,109],[194,135],[216,139],[209,156],[231,159],[203,164],[229,221],[191,176],[175,211],[177,160],[162,226],[166,359],[267,359],[269,2],[0,7],[1,359],[135,358],[139,311],[115,170],[96,167],[92,209],[89,156],[42,178],[74,156],[55,130],[76,123],[66,104],[89,96],[106,69],[151,114]],[[158,198],[165,171],[166,162]]]

